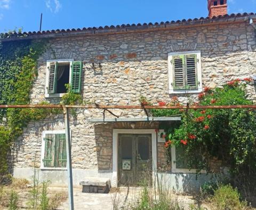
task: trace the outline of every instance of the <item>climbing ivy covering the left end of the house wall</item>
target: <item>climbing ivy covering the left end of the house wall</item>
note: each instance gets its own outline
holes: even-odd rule
[[[37,77],[37,59],[44,52],[46,44],[46,41],[1,43],[0,104],[30,103],[30,91]],[[0,175],[7,172],[10,149],[30,120],[58,113],[59,110],[55,109],[0,110]]]

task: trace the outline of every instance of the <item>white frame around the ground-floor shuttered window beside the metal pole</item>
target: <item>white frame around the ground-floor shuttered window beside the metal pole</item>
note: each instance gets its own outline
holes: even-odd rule
[[[66,134],[66,131],[65,130],[43,131],[40,169],[42,169],[42,170],[60,170],[60,171],[67,170],[67,165],[66,165],[66,167],[44,167],[44,150],[45,150],[45,136],[46,136],[46,134]],[[71,130],[70,130],[70,141],[71,141]]]

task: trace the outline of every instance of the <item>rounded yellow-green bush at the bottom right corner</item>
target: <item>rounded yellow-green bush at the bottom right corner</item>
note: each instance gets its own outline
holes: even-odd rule
[[[237,189],[231,185],[222,185],[214,191],[214,196],[210,199],[213,209],[218,210],[241,210],[248,209],[247,202],[241,201],[241,196]]]

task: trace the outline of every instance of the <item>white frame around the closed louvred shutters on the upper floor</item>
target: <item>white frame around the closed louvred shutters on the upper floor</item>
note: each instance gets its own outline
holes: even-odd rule
[[[173,63],[172,57],[174,55],[189,55],[196,54],[197,58],[197,81],[198,88],[196,90],[174,90],[173,89]],[[169,77],[169,94],[182,94],[182,93],[201,93],[203,91],[202,84],[202,63],[201,63],[201,51],[187,51],[187,52],[171,52],[168,53],[168,77]]]

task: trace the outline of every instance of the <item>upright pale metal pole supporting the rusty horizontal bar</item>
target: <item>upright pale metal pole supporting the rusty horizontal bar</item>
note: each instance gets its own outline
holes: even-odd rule
[[[72,175],[72,159],[71,159],[71,141],[69,129],[69,113],[68,108],[63,106],[63,114],[65,115],[65,134],[66,134],[66,148],[67,148],[67,175],[68,175],[68,204],[69,209],[74,210],[74,196],[73,196],[73,175]]]

